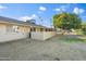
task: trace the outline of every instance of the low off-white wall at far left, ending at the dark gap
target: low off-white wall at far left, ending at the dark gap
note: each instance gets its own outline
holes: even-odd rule
[[[24,39],[27,38],[27,34],[3,34],[0,35],[0,43],[5,42],[5,41],[12,41],[12,40],[17,40],[17,39]]]

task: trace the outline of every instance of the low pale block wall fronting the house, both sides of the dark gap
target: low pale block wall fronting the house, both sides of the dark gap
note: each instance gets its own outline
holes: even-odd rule
[[[56,35],[56,31],[32,31],[32,39],[37,40],[46,40],[48,38],[51,38]],[[0,34],[0,42],[5,41],[12,41],[17,39],[27,38],[28,34],[22,34],[22,33],[8,33],[8,34]]]

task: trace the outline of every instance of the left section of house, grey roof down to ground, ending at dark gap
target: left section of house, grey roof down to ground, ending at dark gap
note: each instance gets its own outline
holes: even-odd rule
[[[29,30],[23,21],[0,16],[0,42],[27,38]]]

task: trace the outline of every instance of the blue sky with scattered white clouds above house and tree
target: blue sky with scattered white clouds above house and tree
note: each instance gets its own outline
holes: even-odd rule
[[[52,16],[61,12],[78,14],[86,22],[85,3],[0,3],[0,16],[24,22],[34,18],[36,24],[48,27],[52,26]]]

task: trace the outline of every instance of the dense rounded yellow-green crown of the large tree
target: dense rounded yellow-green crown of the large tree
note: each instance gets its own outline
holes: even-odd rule
[[[53,26],[62,29],[77,29],[81,27],[82,20],[74,13],[60,13],[53,16]]]

